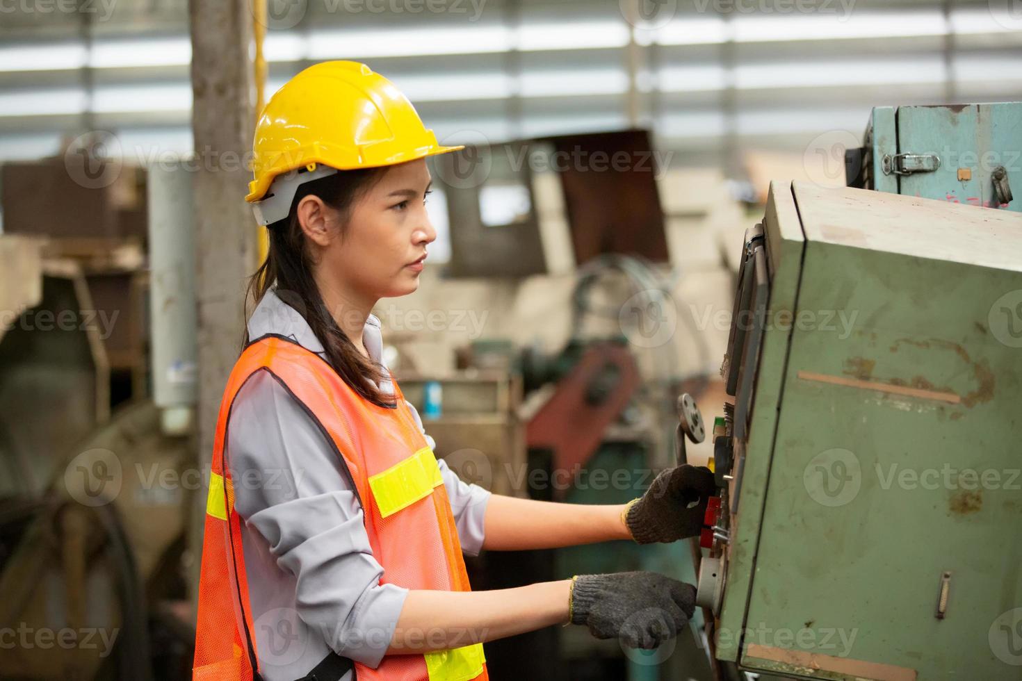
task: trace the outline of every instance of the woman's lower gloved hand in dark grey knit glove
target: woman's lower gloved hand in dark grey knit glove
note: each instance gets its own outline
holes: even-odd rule
[[[696,589],[655,572],[576,575],[572,578],[572,624],[597,638],[620,638],[633,648],[655,648],[689,622]]]

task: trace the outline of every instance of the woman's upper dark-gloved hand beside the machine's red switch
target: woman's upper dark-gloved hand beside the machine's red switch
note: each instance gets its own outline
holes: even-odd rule
[[[707,499],[715,492],[713,473],[705,466],[667,469],[641,498],[629,502],[624,523],[640,544],[695,537],[702,530]]]

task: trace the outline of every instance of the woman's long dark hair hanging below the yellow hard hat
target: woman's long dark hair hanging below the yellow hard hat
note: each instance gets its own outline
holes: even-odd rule
[[[288,216],[267,228],[270,247],[266,259],[248,280],[248,295],[257,304],[276,283],[277,294],[309,323],[326,350],[327,362],[337,375],[359,395],[380,406],[393,406],[392,396],[384,397],[384,393],[376,387],[376,384],[386,378],[383,368],[366,358],[355,347],[323,302],[323,296],[313,279],[312,260],[295,208],[306,196],[318,196],[328,206],[340,211],[341,230],[346,230],[356,200],[378,182],[387,169],[382,166],[340,171],[299,185]],[[245,317],[247,318],[247,313]],[[245,344],[248,342],[246,329]],[[366,379],[371,380],[373,385]]]

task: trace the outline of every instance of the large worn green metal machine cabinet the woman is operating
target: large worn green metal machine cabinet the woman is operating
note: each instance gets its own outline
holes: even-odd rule
[[[742,248],[714,656],[1022,679],[1022,215],[774,183]]]

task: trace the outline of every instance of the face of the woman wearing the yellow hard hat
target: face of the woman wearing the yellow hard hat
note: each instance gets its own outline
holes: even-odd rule
[[[426,246],[436,238],[425,206],[430,184],[425,159],[408,161],[387,168],[356,199],[346,229],[337,211],[327,210],[330,238],[314,238],[320,275],[371,303],[414,292]]]

